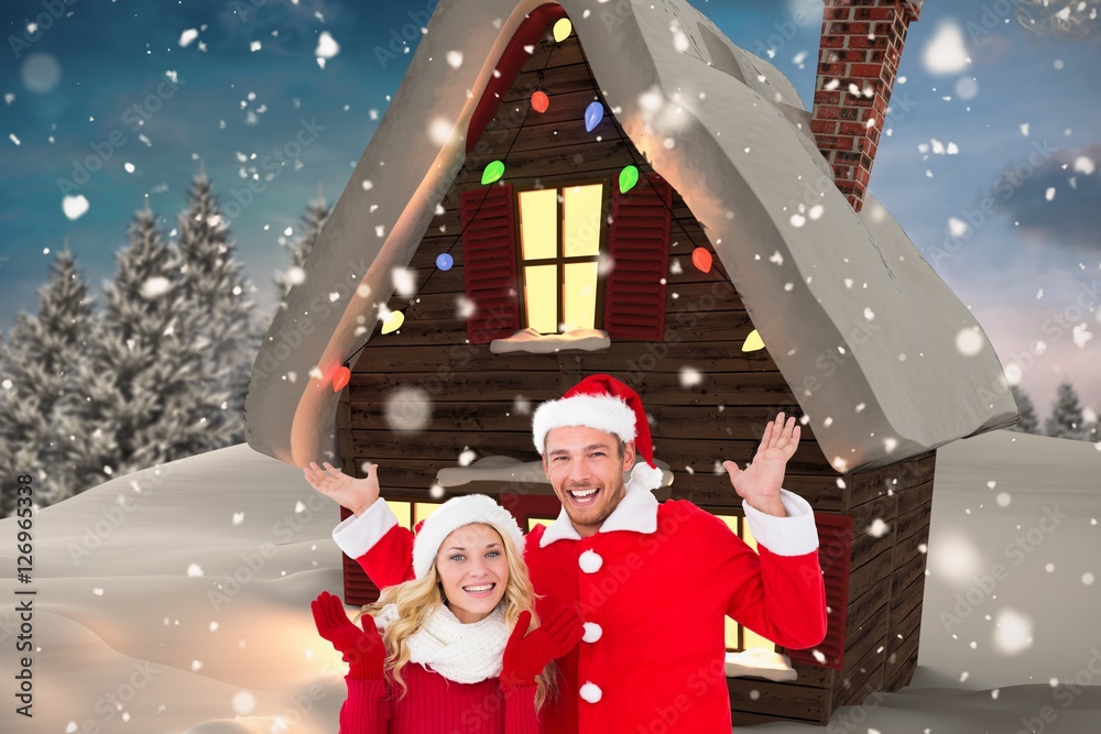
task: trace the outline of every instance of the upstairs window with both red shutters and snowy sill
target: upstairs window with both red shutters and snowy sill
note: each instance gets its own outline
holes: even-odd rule
[[[626,194],[607,179],[522,191],[498,182],[462,191],[460,206],[471,344],[664,339],[673,188],[659,175]],[[569,346],[528,349],[556,339]]]

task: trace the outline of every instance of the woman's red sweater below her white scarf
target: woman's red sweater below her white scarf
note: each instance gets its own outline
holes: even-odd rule
[[[498,678],[456,683],[416,662],[402,668],[408,687],[346,678],[340,734],[537,734],[535,683],[502,688]],[[392,691],[389,690],[392,688]]]

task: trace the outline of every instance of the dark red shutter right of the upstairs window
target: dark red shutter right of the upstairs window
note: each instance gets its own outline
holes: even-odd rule
[[[669,270],[673,187],[651,172],[626,194],[612,185],[604,284],[604,331],[611,339],[662,340]]]

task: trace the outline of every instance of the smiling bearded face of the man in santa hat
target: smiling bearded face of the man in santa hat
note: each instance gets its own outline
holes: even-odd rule
[[[567,426],[547,432],[543,470],[574,528],[587,538],[623,499],[623,472],[634,465],[634,441],[596,428]]]

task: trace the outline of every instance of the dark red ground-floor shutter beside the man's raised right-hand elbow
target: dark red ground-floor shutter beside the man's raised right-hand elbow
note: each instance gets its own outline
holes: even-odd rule
[[[852,558],[852,517],[815,513],[818,563],[826,581],[826,639],[808,650],[785,650],[792,662],[842,670],[846,618],[849,615],[849,561]],[[815,651],[826,656],[815,657]]]

